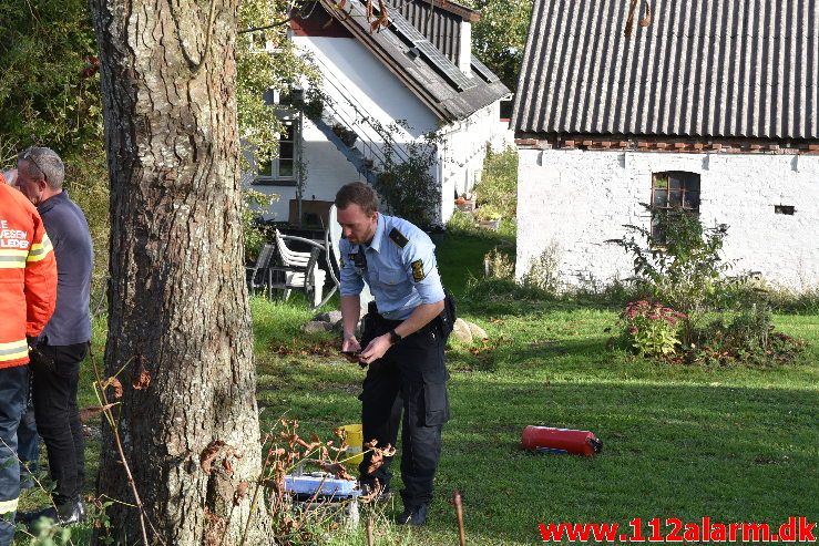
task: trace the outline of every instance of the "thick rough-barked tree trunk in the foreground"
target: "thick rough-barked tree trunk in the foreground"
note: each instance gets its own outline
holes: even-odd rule
[[[151,543],[221,544],[225,529],[224,544],[237,544],[260,474],[239,220],[237,0],[91,0],[91,9],[111,181],[105,373],[123,369],[119,435]],[[143,370],[150,384],[136,389]],[[201,456],[214,441],[237,456],[223,449],[208,474]],[[101,452],[99,492],[134,504],[109,426]],[[142,542],[137,509],[113,504],[109,515],[115,544]]]

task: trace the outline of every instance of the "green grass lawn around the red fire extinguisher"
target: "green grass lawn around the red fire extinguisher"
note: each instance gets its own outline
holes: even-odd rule
[[[536,524],[549,522],[817,519],[819,317],[776,317],[778,328],[808,341],[786,368],[657,364],[605,349],[614,309],[463,297],[469,277],[482,274],[483,255],[498,244],[511,251],[510,239],[448,235],[437,243],[444,282],[460,296],[459,315],[492,341],[479,354],[451,343],[452,420],[430,524],[381,526],[390,535],[380,544],[457,544],[447,502],[453,490],[463,493],[469,544],[534,544]],[[252,308],[263,429],[287,415],[299,420],[303,435],[329,439],[334,427],[359,422],[364,372],[332,352],[313,354],[335,343],[330,334],[299,331],[313,313],[257,298]],[[291,353],[281,354],[283,346]],[[82,403],[95,403],[88,384]],[[528,424],[591,430],[603,453],[522,452]],[[98,451],[90,445],[92,465]],[[362,536],[339,540],[365,544]]]

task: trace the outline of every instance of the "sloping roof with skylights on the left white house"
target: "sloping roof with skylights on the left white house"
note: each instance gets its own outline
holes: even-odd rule
[[[461,72],[398,10],[389,10],[389,25],[373,32],[365,1],[348,0],[342,9],[332,0],[320,1],[328,13],[441,120],[464,120],[509,93],[498,76],[474,56],[471,74]]]

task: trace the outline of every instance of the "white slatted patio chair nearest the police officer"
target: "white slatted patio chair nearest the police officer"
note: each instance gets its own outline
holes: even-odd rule
[[[303,237],[283,235],[278,229],[276,229],[275,238],[277,264],[270,267],[270,289],[284,290],[285,301],[290,297],[290,292],[294,289],[304,290],[310,301],[310,306],[314,308],[319,307],[321,305],[321,295],[327,276],[327,271],[318,267],[318,256],[323,249],[321,245]],[[314,248],[309,253],[296,251],[288,248],[288,240],[308,243]]]

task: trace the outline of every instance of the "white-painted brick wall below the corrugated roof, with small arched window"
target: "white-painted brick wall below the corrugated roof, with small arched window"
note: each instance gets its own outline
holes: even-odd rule
[[[700,175],[700,219],[727,224],[724,257],[733,272],[759,271],[780,286],[819,284],[819,156],[670,154],[521,150],[516,275],[544,250],[559,259],[567,285],[603,284],[632,275],[622,247],[624,224],[647,226],[652,174]],[[792,216],[775,214],[792,205]]]

